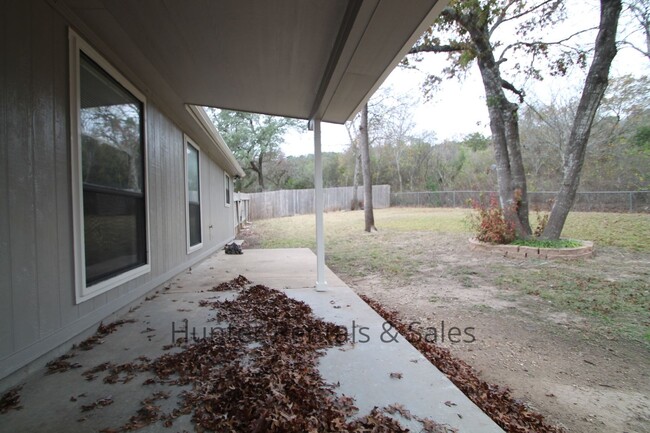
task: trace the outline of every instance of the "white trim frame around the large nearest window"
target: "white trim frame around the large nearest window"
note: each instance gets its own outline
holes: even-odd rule
[[[104,59],[93,47],[77,35],[72,29],[68,31],[69,66],[70,66],[70,143],[72,165],[72,222],[75,265],[75,300],[77,304],[85,302],[102,293],[114,289],[128,281],[151,272],[151,248],[149,239],[149,176],[147,156],[147,99],[129,80],[127,80],[113,65]],[[108,280],[86,286],[86,257],[84,241],[83,214],[83,184],[81,182],[81,129],[79,127],[80,113],[80,55],[83,51],[113,79],[124,86],[133,96],[142,102],[144,122],[144,194],[145,194],[145,237],[147,263],[135,269],[116,275]]]

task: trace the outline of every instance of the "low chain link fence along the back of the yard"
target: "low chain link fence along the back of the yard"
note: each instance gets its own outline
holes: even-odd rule
[[[555,192],[529,192],[531,210],[550,210]],[[470,207],[472,200],[485,200],[496,191],[422,191],[391,194],[391,206]],[[584,212],[650,212],[650,191],[578,192],[572,210]]]

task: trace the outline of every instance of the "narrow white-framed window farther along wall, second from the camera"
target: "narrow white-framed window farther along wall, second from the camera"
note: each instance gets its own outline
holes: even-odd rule
[[[199,148],[189,138],[185,139],[185,178],[187,194],[187,252],[202,244],[201,236],[201,173]]]

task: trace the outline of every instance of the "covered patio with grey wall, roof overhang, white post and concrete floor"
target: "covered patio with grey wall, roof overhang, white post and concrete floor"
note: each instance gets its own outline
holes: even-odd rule
[[[353,118],[447,3],[3,3],[10,37],[5,45],[11,49],[2,76],[13,90],[0,101],[9,143],[0,153],[8,168],[0,185],[8,199],[0,200],[0,215],[10,222],[0,227],[0,379],[3,392],[20,388],[3,401],[0,430],[160,431],[163,424],[194,430],[189,413],[174,412],[192,387],[157,380],[149,367],[165,354],[191,350],[192,344],[177,341],[192,338],[194,330],[200,337],[215,322],[229,325],[206,305],[238,299],[236,291],[211,289],[241,274],[305,302],[327,322],[348,331],[366,328],[367,341],[330,347],[317,366],[323,383],[336,385],[333,393],[354,399],[359,416],[399,405],[452,431],[501,431],[325,266],[321,122]],[[92,92],[81,84],[81,63],[103,77],[95,80],[98,88],[126,90],[135,98],[138,164],[147,189],[137,198],[139,229],[127,239],[137,241],[137,268],[111,269],[114,275],[107,272],[101,281],[85,274],[84,136],[76,123],[80,94]],[[107,106],[114,104],[106,99]],[[306,249],[213,254],[235,235],[228,175],[243,172],[204,106],[309,122],[316,254]],[[208,169],[201,175],[208,187],[201,187],[207,202],[206,209],[198,208],[201,220],[196,215],[192,220],[189,211],[189,170],[182,159],[190,147],[203,151],[202,167]],[[190,226],[200,232],[201,225],[205,236],[193,239]],[[109,239],[100,247],[111,242],[116,244]],[[163,420],[157,411],[171,415]],[[422,423],[405,413],[391,416],[422,430]]]

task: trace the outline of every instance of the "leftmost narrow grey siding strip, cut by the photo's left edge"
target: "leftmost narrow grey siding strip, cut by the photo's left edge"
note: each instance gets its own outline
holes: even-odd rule
[[[7,16],[9,6],[3,2],[0,6],[0,50],[9,52],[7,42]],[[0,63],[0,86],[8,89],[7,66],[10,62]],[[9,223],[9,164],[7,146],[7,118],[9,104],[7,93],[0,92],[0,359],[13,352],[13,301],[11,282],[11,227]]]

